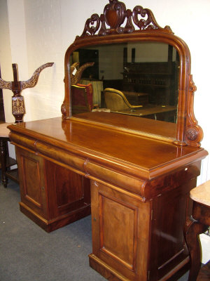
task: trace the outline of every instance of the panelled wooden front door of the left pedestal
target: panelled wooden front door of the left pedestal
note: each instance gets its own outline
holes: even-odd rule
[[[16,156],[20,175],[20,208],[24,205],[48,218],[44,159],[21,148],[16,148]]]

